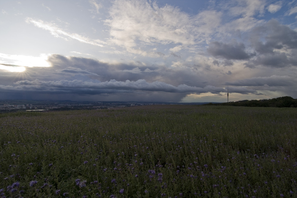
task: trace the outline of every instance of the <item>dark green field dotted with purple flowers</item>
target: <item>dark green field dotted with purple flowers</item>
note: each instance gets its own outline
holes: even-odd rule
[[[0,114],[0,197],[297,197],[296,108]]]

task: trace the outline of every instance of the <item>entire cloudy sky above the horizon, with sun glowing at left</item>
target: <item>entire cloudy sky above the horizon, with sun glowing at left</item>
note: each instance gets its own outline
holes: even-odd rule
[[[296,0],[2,0],[0,99],[297,98]]]

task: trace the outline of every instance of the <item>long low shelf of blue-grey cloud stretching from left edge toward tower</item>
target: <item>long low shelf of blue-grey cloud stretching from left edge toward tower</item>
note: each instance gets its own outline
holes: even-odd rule
[[[47,90],[53,91],[66,91],[85,94],[100,94],[100,93],[111,93],[111,92],[134,92],[134,91],[163,91],[170,93],[206,93],[211,92],[218,94],[219,92],[225,91],[222,88],[214,86],[206,86],[204,88],[192,87],[185,84],[173,86],[164,82],[152,82],[148,83],[146,80],[137,81],[116,81],[110,80],[105,82],[100,82],[97,80],[83,81],[83,80],[59,80],[59,81],[41,81],[41,80],[22,80],[14,83],[16,86],[1,86],[2,89],[23,89],[23,90]]]

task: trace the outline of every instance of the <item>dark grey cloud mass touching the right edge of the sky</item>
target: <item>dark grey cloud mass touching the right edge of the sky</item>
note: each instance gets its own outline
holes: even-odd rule
[[[297,66],[297,32],[289,26],[279,24],[277,20],[270,20],[253,29],[250,41],[257,57],[245,63],[247,67]]]

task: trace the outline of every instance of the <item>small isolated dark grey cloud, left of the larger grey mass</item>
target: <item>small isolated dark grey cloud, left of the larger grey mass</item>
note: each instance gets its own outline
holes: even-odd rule
[[[222,57],[228,60],[244,60],[252,57],[245,51],[243,43],[222,43],[218,41],[211,42],[207,48],[208,53],[215,57]]]

